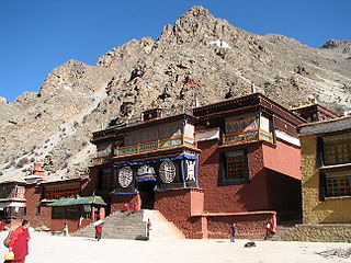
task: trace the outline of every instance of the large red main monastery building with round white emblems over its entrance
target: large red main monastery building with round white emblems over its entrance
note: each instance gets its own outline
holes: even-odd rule
[[[93,133],[90,167],[109,213],[157,209],[188,238],[263,238],[269,218],[301,217],[297,126],[306,121],[254,93]]]

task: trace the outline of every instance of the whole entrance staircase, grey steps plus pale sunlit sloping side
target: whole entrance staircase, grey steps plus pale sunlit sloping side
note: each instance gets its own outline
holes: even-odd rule
[[[115,211],[104,218],[102,238],[145,239],[146,224],[150,220],[150,240],[184,239],[184,235],[158,210],[139,210],[135,214]],[[72,237],[95,237],[92,224],[71,235]]]

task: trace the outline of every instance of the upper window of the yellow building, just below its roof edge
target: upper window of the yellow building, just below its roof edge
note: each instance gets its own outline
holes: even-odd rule
[[[351,134],[322,138],[325,165],[351,162]]]

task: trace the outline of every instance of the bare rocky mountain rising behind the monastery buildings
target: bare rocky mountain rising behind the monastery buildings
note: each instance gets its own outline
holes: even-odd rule
[[[41,159],[49,180],[87,173],[94,130],[156,105],[172,110],[261,92],[286,107],[317,101],[351,106],[350,42],[312,48],[257,35],[193,7],[159,38],[133,39],[98,59],[69,60],[39,92],[0,100],[0,181],[22,180]]]

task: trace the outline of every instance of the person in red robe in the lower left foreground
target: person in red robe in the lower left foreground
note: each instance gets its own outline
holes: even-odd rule
[[[11,261],[13,263],[24,263],[25,256],[29,254],[29,241],[31,239],[29,227],[30,221],[24,219],[11,236],[9,250],[14,253],[14,260]]]

